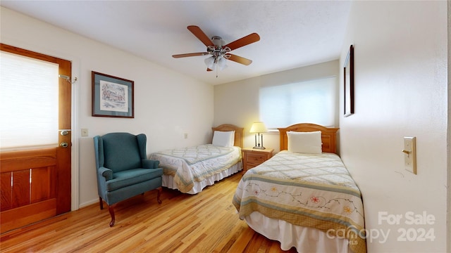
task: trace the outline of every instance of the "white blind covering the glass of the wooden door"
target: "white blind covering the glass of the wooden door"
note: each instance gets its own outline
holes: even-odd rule
[[[58,145],[58,65],[0,53],[0,149]]]

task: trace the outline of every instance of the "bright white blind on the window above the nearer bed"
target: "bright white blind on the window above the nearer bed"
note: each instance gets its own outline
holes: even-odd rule
[[[337,105],[335,77],[309,80],[259,90],[260,120],[269,129],[297,123],[333,126]]]

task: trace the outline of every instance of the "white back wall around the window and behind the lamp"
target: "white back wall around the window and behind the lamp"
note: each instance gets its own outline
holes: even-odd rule
[[[260,86],[290,84],[292,82],[333,76],[336,76],[338,79],[340,76],[338,64],[338,60],[332,60],[326,63],[298,67],[292,70],[216,85],[214,86],[214,124],[231,123],[244,127],[244,146],[253,147],[255,142],[254,134],[249,134],[249,130],[253,122],[259,121]],[[338,126],[338,117],[335,119],[335,126]],[[274,152],[277,153],[280,150],[278,132],[264,134],[264,146],[266,148],[274,148]]]

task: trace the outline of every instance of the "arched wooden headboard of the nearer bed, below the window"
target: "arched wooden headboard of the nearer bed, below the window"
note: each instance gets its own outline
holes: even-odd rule
[[[328,128],[318,124],[301,123],[288,126],[287,128],[280,128],[280,150],[288,149],[288,131],[321,131],[321,142],[323,145],[323,152],[337,153],[337,131],[338,128]]]

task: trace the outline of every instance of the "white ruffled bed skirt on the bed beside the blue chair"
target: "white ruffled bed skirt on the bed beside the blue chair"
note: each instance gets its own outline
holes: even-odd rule
[[[205,188],[206,186],[213,186],[214,182],[220,181],[221,179],[224,179],[224,178],[226,178],[232,174],[235,174],[241,170],[242,170],[242,161],[240,160],[240,162],[237,162],[232,167],[225,169],[225,170],[219,172],[218,174],[210,176],[209,178],[206,178],[200,182],[194,181],[193,188],[187,193],[189,193],[189,194],[200,193],[202,191],[202,189]],[[165,175],[165,174],[163,174],[163,187],[178,190],[177,185],[173,181],[173,176]]]

